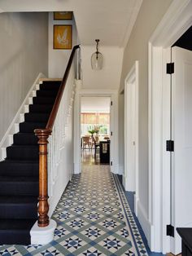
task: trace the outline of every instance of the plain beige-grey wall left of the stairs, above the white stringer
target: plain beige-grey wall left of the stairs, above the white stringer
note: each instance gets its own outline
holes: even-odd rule
[[[0,141],[29,88],[48,69],[48,15],[0,14]]]

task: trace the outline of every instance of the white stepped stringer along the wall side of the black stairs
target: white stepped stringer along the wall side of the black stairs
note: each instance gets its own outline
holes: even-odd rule
[[[43,73],[39,73],[33,86],[28,90],[23,103],[21,104],[18,112],[15,114],[15,117],[11,121],[11,125],[8,127],[7,132],[2,137],[0,142],[0,161],[7,157],[6,148],[11,146],[13,143],[13,135],[19,132],[19,124],[21,121],[24,121],[24,113],[28,113],[28,105],[33,104],[33,96],[36,95],[36,90],[39,89],[39,85],[42,83],[41,78],[46,76]]]

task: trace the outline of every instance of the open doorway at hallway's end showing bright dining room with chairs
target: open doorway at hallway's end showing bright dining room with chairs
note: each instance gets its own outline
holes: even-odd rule
[[[110,97],[81,97],[81,162],[110,164]]]

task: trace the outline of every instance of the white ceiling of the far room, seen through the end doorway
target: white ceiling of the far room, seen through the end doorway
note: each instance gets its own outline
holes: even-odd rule
[[[81,113],[110,113],[110,98],[81,97]]]

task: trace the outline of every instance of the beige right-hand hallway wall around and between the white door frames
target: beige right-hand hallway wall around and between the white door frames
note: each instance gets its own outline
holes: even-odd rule
[[[172,0],[143,0],[131,37],[124,50],[120,91],[124,79],[139,61],[139,199],[146,218],[148,216],[148,42]],[[122,105],[120,105],[120,112]],[[122,122],[122,119],[120,120]],[[120,133],[120,137],[123,133]],[[120,144],[121,145],[121,144]],[[120,154],[123,146],[120,148]],[[120,160],[122,161],[122,160]]]

